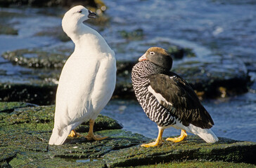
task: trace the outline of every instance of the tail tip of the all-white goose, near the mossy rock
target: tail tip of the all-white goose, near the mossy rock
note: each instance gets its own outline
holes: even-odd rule
[[[58,129],[56,127],[53,128],[53,133],[51,134],[51,138],[49,140],[50,145],[62,145],[64,141],[67,139],[70,134],[71,127],[65,127],[65,129]]]

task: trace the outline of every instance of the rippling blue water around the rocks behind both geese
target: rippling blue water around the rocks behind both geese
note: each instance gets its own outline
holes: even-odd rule
[[[117,59],[138,59],[152,44],[165,47],[175,43],[192,48],[200,59],[210,55],[231,57],[245,62],[250,76],[256,72],[256,3],[254,1],[105,1],[110,23],[105,27],[93,26],[115,50]],[[56,45],[60,41],[51,36],[34,36],[47,27],[60,27],[61,18],[41,15],[40,9],[1,8],[27,15],[13,18],[18,36],[0,34],[0,53],[20,48],[38,48]],[[142,29],[141,38],[123,38],[120,31]],[[174,62],[175,64],[175,62]],[[20,79],[20,74],[31,69],[15,66],[0,57],[0,69],[10,76],[9,81]],[[1,71],[0,71],[1,72]],[[255,85],[255,84],[254,84]],[[256,94],[250,92],[224,99],[203,102],[215,126],[212,130],[219,137],[256,141]],[[136,101],[112,100],[102,112],[117,119],[124,129],[155,138],[158,128],[143,113]],[[164,136],[179,134],[169,128]]]

